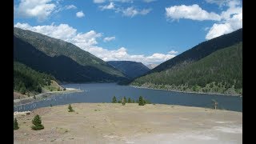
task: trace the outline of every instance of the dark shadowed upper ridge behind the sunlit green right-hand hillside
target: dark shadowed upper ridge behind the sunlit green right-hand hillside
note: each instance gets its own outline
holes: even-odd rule
[[[179,54],[166,62],[162,62],[159,66],[155,67],[153,70],[150,70],[148,74],[170,69],[172,66],[178,65],[179,63],[185,61],[196,62],[201,58],[205,58],[207,55],[216,50],[233,46],[238,42],[242,42],[242,29],[236,30],[230,34],[224,34],[220,37],[210,39],[206,42],[202,42],[190,50],[186,50],[182,54]]]

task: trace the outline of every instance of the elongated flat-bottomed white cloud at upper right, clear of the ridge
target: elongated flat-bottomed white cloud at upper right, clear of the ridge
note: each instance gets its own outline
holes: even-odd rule
[[[221,17],[214,12],[208,13],[206,10],[202,10],[200,6],[194,4],[192,6],[170,6],[166,7],[166,18],[170,19],[180,19],[187,18],[192,20],[215,20],[220,21]]]

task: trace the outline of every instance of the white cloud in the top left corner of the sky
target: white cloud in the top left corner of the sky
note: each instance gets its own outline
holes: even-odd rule
[[[54,11],[56,5],[51,0],[22,0],[14,8],[14,14],[21,18],[38,18],[44,21]]]

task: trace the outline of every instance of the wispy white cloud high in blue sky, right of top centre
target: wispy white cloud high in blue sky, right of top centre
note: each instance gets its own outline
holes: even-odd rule
[[[137,10],[134,9],[134,7],[128,7],[125,10],[122,10],[122,14],[126,17],[134,17],[137,14],[146,15],[150,12],[151,9],[143,9],[143,10]]]

